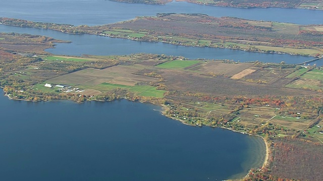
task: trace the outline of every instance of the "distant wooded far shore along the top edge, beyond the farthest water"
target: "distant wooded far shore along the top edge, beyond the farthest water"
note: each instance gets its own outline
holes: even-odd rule
[[[111,0],[122,3],[141,3],[150,5],[165,5],[170,3],[170,0]],[[177,2],[188,2],[199,5],[219,6],[219,7],[233,7],[233,8],[299,8],[299,9],[312,9],[322,10],[323,4],[317,0],[235,0],[235,1],[217,1],[217,0],[176,0]]]

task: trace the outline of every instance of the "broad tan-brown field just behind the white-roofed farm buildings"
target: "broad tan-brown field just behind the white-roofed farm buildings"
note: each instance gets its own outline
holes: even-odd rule
[[[133,86],[138,82],[155,82],[158,79],[132,73],[138,71],[140,66],[113,66],[105,69],[87,68],[59,77],[51,78],[48,81],[53,83],[65,84],[83,84],[83,85],[98,85],[103,82],[116,83],[122,85]]]

